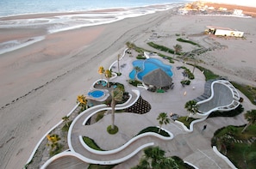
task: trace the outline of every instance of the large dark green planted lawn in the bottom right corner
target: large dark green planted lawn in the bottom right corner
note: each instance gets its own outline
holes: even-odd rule
[[[242,134],[241,130],[243,128],[244,126],[229,125],[216,130],[212,138],[212,145],[215,145],[222,154],[228,156],[234,166],[238,168],[255,168],[256,142],[248,143],[248,140],[256,136],[256,125],[250,125]],[[232,138],[228,142],[227,136]],[[237,142],[237,140],[240,142]]]

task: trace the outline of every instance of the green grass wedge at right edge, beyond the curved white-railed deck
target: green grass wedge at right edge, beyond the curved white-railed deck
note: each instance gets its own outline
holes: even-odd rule
[[[236,83],[234,81],[231,81],[234,88],[237,88],[240,90],[241,93],[245,94],[247,98],[253,103],[253,105],[256,105],[256,88],[248,85],[242,85],[239,83]]]

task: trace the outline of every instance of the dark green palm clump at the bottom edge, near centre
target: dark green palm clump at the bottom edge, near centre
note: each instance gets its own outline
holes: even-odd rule
[[[159,147],[150,147],[144,150],[140,164],[133,169],[178,169],[178,164],[171,157],[165,157],[165,151]]]

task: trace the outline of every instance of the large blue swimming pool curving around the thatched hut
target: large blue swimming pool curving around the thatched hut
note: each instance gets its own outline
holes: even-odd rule
[[[144,75],[147,75],[147,73],[153,71],[154,69],[159,69],[159,68],[164,70],[167,75],[170,75],[172,77],[172,66],[162,63],[162,61],[160,61],[157,58],[147,58],[146,60],[135,60],[133,62],[133,66],[134,67],[138,66],[141,69],[141,71],[137,75],[137,78],[140,81],[142,80],[142,77]],[[135,75],[136,75],[136,71],[133,69],[130,72],[129,77],[131,79],[135,79]]]

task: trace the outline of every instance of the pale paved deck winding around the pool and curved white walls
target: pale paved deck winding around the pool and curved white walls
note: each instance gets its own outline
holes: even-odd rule
[[[80,142],[75,138],[75,136],[78,136],[78,133],[82,133],[83,136],[89,136],[97,142],[97,145],[100,148],[105,150],[119,148],[131,140],[140,130],[145,129],[148,126],[159,125],[156,118],[160,112],[167,112],[168,114],[172,112],[179,116],[187,116],[188,112],[184,109],[184,104],[189,100],[194,100],[204,92],[205,78],[199,69],[195,70],[196,78],[191,81],[190,86],[182,87],[180,81],[184,79],[184,76],[182,75],[183,69],[176,69],[176,67],[183,66],[183,63],[178,61],[172,64],[172,79],[175,86],[173,89],[169,89],[165,93],[152,93],[147,91],[145,88],[135,88],[128,85],[127,80],[129,79],[129,72],[133,69],[132,61],[134,59],[134,57],[123,57],[120,61],[120,65],[124,65],[121,68],[122,75],[111,81],[123,83],[126,91],[129,93],[132,93],[131,91],[134,89],[139,90],[140,96],[151,104],[152,109],[150,112],[143,115],[134,113],[116,113],[115,124],[118,126],[119,131],[114,136],[110,136],[106,132],[107,126],[111,124],[110,114],[105,115],[104,118],[96,124],[81,125],[80,123],[76,125],[71,135],[71,138],[75,139],[72,141],[72,144],[76,145],[78,153],[82,154],[86,158],[91,158],[93,160],[116,160],[120,159],[122,156],[120,156],[120,154],[104,156],[89,154],[83,147],[80,147]],[[168,63],[168,60],[161,60],[164,63]],[[190,65],[185,66],[192,69],[192,66]],[[112,70],[115,71],[116,69]],[[84,121],[84,118],[80,118],[79,121]],[[222,158],[215,154],[213,148],[210,146],[210,140],[214,135],[215,130],[220,129],[223,126],[230,124],[242,125],[246,123],[247,122],[243,118],[242,114],[235,118],[209,118],[201,123],[195,124],[193,132],[188,133],[184,131],[179,124],[176,124],[171,120],[171,123],[163,125],[163,128],[172,132],[174,136],[172,140],[164,141],[156,137],[147,137],[146,139],[131,144],[130,147],[122,150],[122,154],[125,155],[131,153],[134,148],[137,148],[139,145],[143,145],[145,142],[153,142],[154,146],[159,146],[164,149],[167,156],[177,155],[198,168],[231,168],[228,166],[226,161],[222,160]],[[202,131],[203,125],[205,124],[207,124],[207,129]],[[131,168],[136,166],[139,163],[141,154],[142,151],[134,155],[134,157],[131,157],[129,160],[115,166],[115,169]],[[79,168],[81,161],[77,159],[75,160],[78,161],[78,167],[73,166],[72,168]],[[54,160],[54,162],[47,166],[47,168],[54,168],[56,163],[61,166],[61,168],[69,167],[69,163],[66,163],[65,158],[59,158],[58,160]]]

